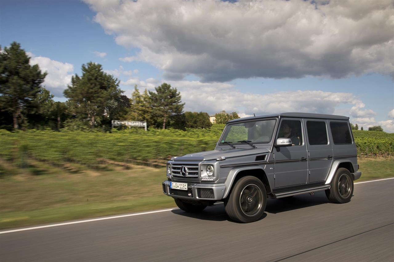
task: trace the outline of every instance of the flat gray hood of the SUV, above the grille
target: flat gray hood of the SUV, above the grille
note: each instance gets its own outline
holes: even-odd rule
[[[269,148],[236,148],[211,150],[198,153],[191,153],[182,157],[177,157],[175,161],[206,161],[214,160],[218,157],[240,157],[245,155],[256,155],[260,153],[268,153]]]

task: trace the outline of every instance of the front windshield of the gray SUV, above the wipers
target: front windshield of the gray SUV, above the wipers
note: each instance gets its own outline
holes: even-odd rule
[[[275,119],[260,120],[255,122],[245,122],[229,124],[225,130],[220,143],[241,144],[242,140],[252,143],[269,143],[275,128]]]

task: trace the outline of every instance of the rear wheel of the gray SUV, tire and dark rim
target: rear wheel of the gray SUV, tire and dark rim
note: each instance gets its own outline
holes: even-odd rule
[[[353,196],[353,177],[346,168],[338,168],[331,181],[331,188],[325,190],[325,195],[333,203],[348,203]]]

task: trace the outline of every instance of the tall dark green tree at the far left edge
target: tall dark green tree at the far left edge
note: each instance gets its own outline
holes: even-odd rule
[[[32,105],[46,76],[46,72],[41,73],[39,66],[32,66],[29,61],[17,42],[4,51],[0,47],[0,104],[2,111],[12,114],[14,129],[19,129],[24,110]]]

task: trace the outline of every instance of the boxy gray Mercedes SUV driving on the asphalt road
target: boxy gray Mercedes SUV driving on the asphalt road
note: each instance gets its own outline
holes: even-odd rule
[[[173,157],[163,192],[186,212],[223,201],[232,220],[247,223],[262,217],[267,197],[325,190],[347,203],[358,170],[348,117],[270,114],[231,120],[214,150]]]

